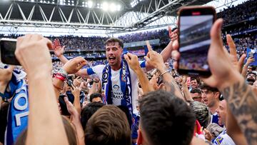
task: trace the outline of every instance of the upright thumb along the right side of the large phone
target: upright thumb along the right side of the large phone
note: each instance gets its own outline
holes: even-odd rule
[[[221,26],[223,23],[223,19],[217,19],[213,26],[211,27],[211,43],[218,45],[218,48],[223,48],[223,43],[221,39]],[[218,49],[215,48],[215,49]]]

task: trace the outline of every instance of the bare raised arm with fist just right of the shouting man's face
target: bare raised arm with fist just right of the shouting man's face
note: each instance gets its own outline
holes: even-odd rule
[[[139,82],[143,89],[143,94],[154,91],[153,86],[151,86],[146,77],[146,74],[144,74],[143,70],[139,65],[138,57],[136,55],[128,53],[124,55],[124,59],[126,59],[131,69],[133,69],[133,71],[135,71],[136,75],[138,76]]]

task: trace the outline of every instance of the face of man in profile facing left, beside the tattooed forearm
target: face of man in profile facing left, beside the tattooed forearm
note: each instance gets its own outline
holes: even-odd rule
[[[218,104],[218,109],[216,109],[216,112],[218,114],[218,124],[225,125],[226,124],[226,100],[222,100]]]

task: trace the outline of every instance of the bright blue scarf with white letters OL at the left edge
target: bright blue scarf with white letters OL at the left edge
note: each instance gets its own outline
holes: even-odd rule
[[[25,74],[26,75],[26,74]],[[5,132],[5,145],[15,143],[19,134],[28,126],[29,97],[24,74],[14,71],[4,96],[13,96],[9,104],[7,126]]]

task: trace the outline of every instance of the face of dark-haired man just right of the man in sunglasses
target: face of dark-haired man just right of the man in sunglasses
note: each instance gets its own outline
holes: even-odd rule
[[[215,104],[215,93],[212,91],[208,91],[207,89],[201,90],[201,96],[203,100],[203,104],[206,104],[208,107],[211,107]]]

